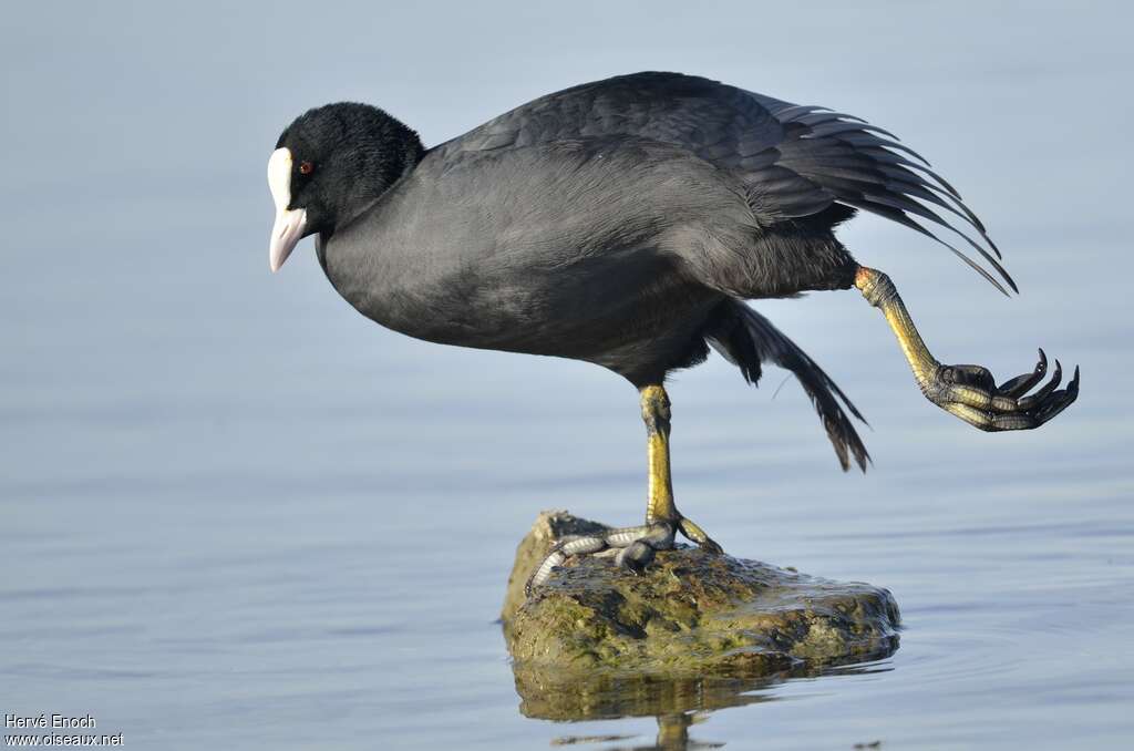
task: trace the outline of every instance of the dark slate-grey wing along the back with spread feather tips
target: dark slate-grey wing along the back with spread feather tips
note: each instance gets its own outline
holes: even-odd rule
[[[957,243],[919,220],[946,228],[1016,289],[980,219],[895,136],[849,115],[706,78],[640,73],[583,84],[518,107],[439,149],[485,151],[618,134],[679,145],[734,172],[761,222],[810,217],[832,203],[862,209],[932,237],[1005,292]]]

